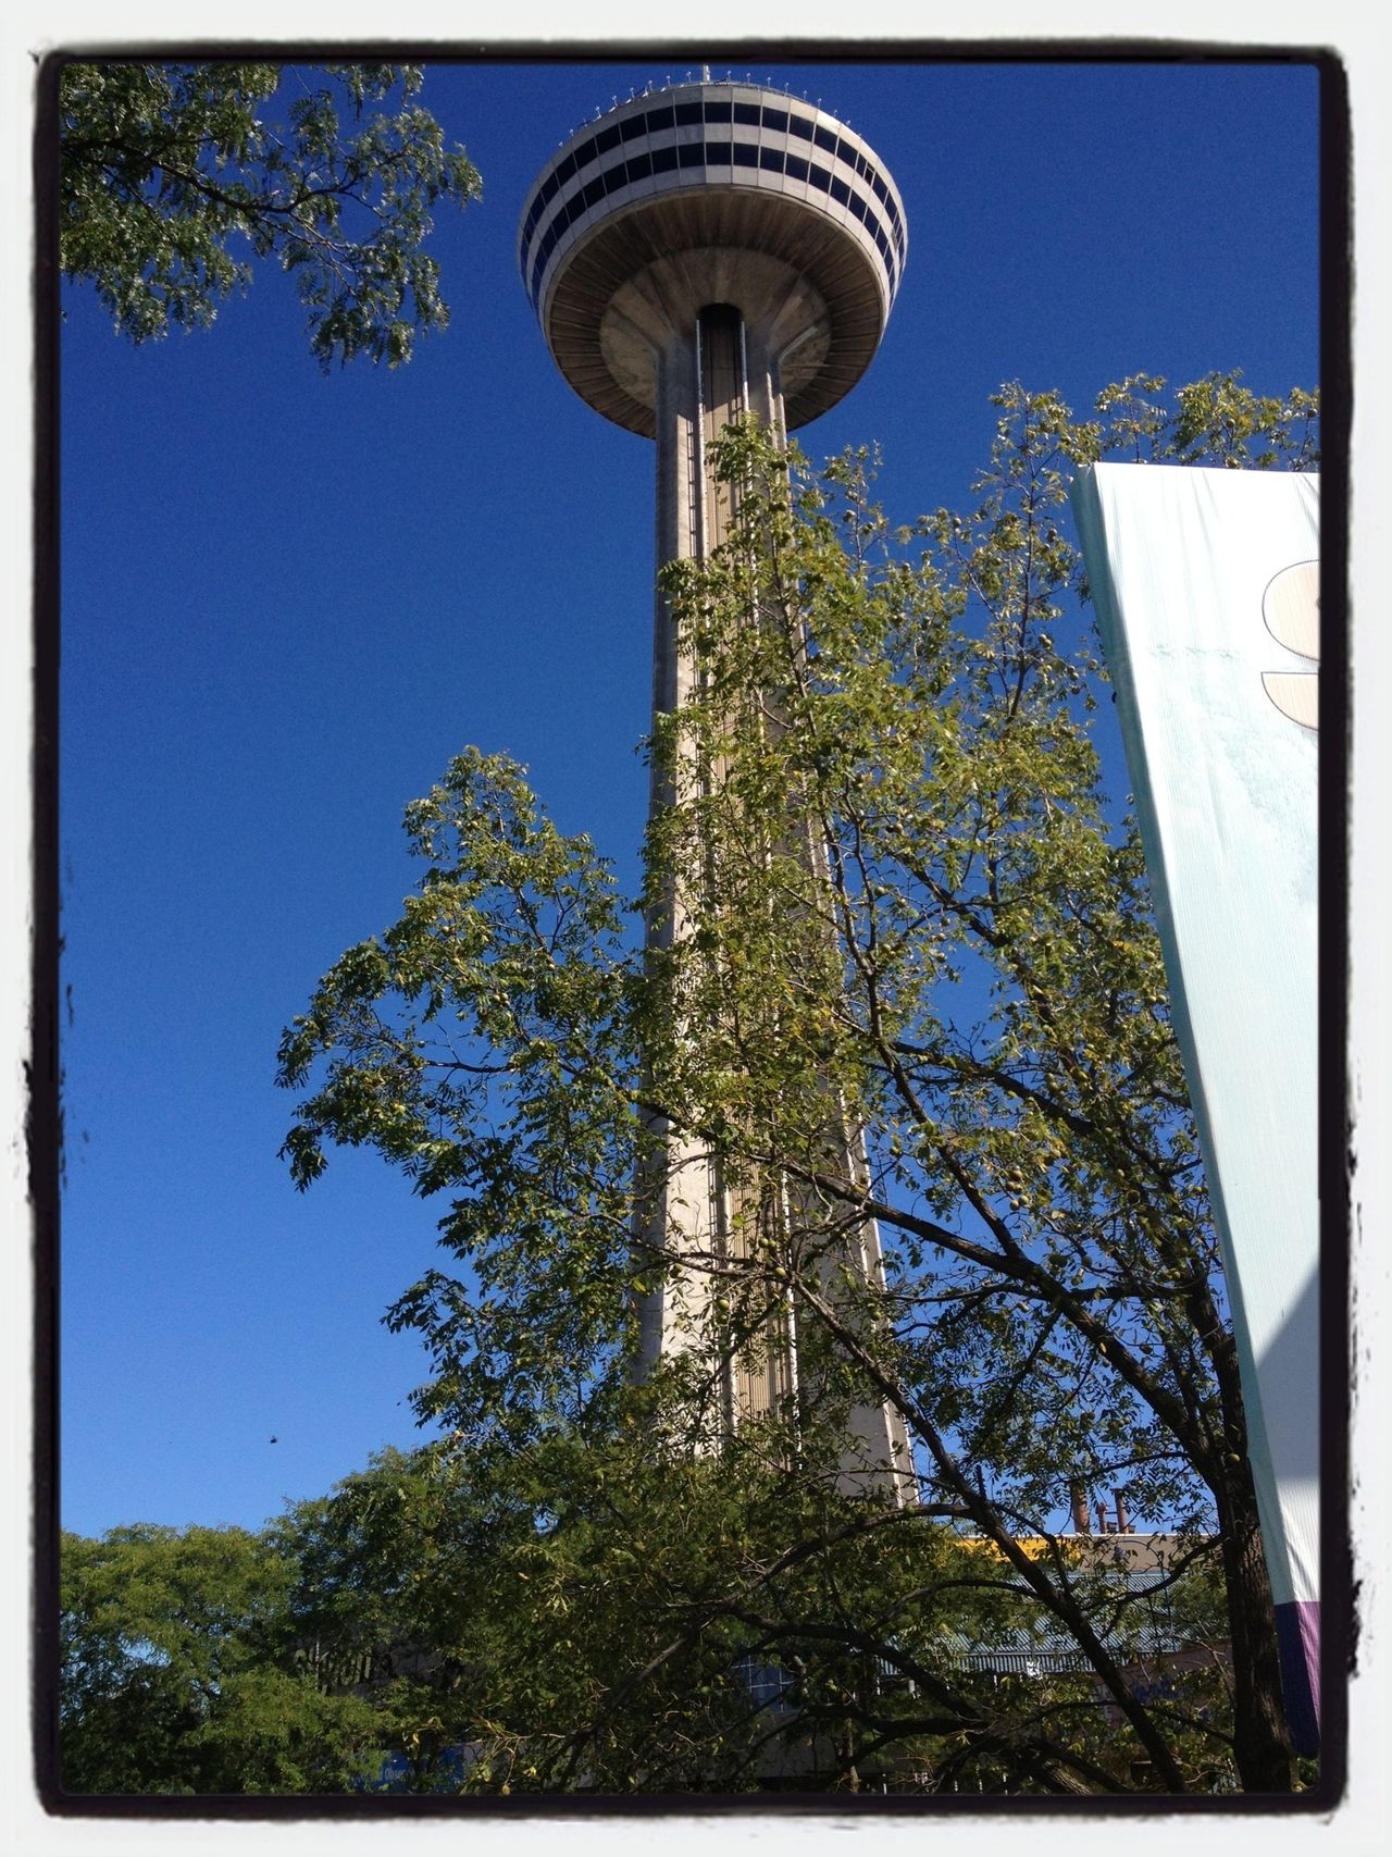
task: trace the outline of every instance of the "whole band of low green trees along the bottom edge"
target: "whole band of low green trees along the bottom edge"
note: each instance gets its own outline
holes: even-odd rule
[[[260,1534],[65,1536],[63,1790],[1132,1788],[1086,1666],[1036,1625],[1025,1668],[982,1541],[748,1437],[655,1454],[650,1419],[635,1393],[607,1435],[382,1452]],[[1221,1772],[1214,1582],[1177,1560],[1136,1610],[1112,1642],[1151,1655],[1164,1619],[1197,1668],[1160,1716]]]

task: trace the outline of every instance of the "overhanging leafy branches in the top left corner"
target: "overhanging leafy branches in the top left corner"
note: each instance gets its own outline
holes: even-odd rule
[[[245,240],[295,273],[325,370],[356,355],[395,368],[449,321],[421,249],[431,212],[481,193],[410,100],[419,87],[414,65],[63,63],[63,275],[95,284],[117,331],[145,342],[208,327],[247,288]],[[395,113],[367,113],[393,93]]]

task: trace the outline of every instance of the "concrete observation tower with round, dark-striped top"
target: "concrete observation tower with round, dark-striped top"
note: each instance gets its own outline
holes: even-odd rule
[[[908,256],[904,202],[874,150],[800,97],[759,84],[650,89],[577,130],[546,163],[518,228],[518,267],[551,357],[607,420],[657,440],[657,561],[702,559],[724,540],[729,488],[707,446],[754,412],[778,433],[833,407],[869,368]],[[677,650],[657,598],[653,711],[689,698],[696,670]],[[653,806],[672,793],[655,776]],[[815,852],[809,852],[815,856]],[[674,932],[679,910],[650,923]],[[837,1122],[828,1105],[830,1122]],[[857,1161],[857,1138],[830,1131]],[[644,1361],[700,1346],[709,1285],[700,1259],[728,1261],[752,1242],[720,1164],[668,1133],[655,1242],[692,1270],[642,1311]],[[748,1209],[746,1209],[748,1211]],[[844,1240],[843,1240],[844,1242]],[[856,1266],[882,1278],[874,1224],[859,1227]],[[748,1255],[748,1253],[746,1253]],[[772,1409],[796,1391],[796,1313],[780,1333],[724,1369],[724,1422]],[[852,1415],[856,1463],[908,1467],[887,1408]]]

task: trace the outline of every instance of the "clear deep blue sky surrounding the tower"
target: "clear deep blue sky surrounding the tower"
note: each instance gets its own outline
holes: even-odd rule
[[[362,1155],[293,1192],[275,1047],[397,914],[401,810],[464,743],[637,877],[651,448],[555,371],[514,236],[559,141],[690,67],[431,69],[484,201],[442,215],[453,325],[395,375],[325,379],[275,273],[145,349],[67,295],[67,1526],[256,1526],[418,1435],[425,1361],[380,1313],[436,1214]],[[965,501],[1004,379],[1314,384],[1312,67],[733,69],[820,98],[904,197],[882,351],[800,435],[878,440],[896,518]]]

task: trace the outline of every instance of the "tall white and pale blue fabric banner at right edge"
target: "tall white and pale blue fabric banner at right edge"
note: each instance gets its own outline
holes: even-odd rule
[[[1292,1736],[1318,1727],[1320,479],[1073,487],[1227,1266]]]

